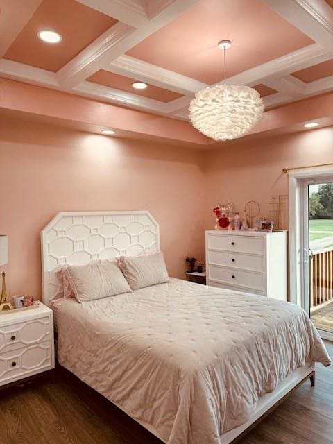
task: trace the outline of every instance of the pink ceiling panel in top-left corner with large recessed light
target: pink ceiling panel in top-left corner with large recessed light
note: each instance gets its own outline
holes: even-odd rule
[[[4,58],[58,71],[116,22],[76,0],[43,0]],[[42,42],[37,37],[42,29],[60,33],[62,42]]]

